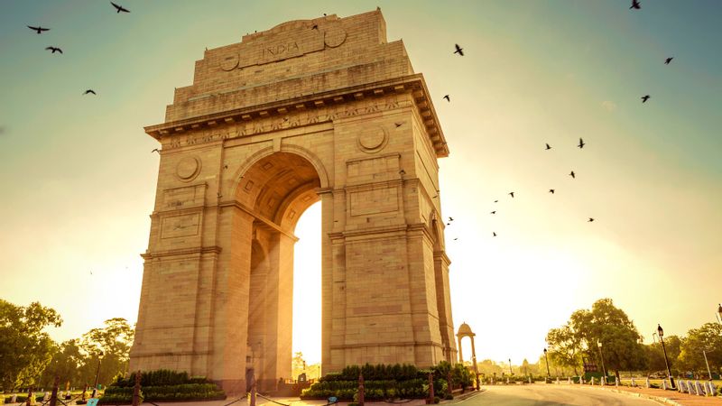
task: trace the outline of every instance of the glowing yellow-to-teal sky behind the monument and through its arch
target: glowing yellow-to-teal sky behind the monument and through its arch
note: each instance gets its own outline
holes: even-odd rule
[[[204,49],[376,5],[449,143],[439,164],[442,214],[455,218],[452,314],[477,333],[479,360],[534,362],[550,328],[605,297],[647,341],[657,323],[685,334],[713,320],[722,3],[121,3],[131,14],[102,1],[0,3],[0,298],[59,310],[56,339],[137,317],[158,170],[143,126],[162,123]],[[25,27],[36,24],[51,31]],[[316,205],[296,230],[294,328],[310,333],[293,346],[309,363],[320,358],[319,224]]]

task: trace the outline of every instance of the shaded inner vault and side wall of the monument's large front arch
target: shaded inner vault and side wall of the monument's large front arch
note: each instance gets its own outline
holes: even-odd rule
[[[247,387],[255,378],[259,390],[276,390],[279,378],[292,378],[295,232],[301,215],[319,201],[319,187],[319,174],[310,161],[275,152],[255,161],[236,188],[239,206],[254,217],[245,331]],[[320,303],[314,310],[320,327],[319,310]],[[320,348],[320,332],[317,343]]]

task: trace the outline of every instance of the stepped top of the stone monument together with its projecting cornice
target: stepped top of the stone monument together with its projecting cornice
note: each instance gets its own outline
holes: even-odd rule
[[[145,132],[160,141],[255,119],[278,121],[254,127],[255,134],[290,125],[289,115],[306,109],[316,110],[309,119],[318,121],[322,113],[329,119],[329,108],[338,113],[344,103],[404,92],[412,92],[437,156],[449,155],[426,83],[413,72],[403,42],[386,41],[381,10],[345,18],[331,14],[281,23],[206,50],[196,61],[193,84],[176,88],[165,122]]]

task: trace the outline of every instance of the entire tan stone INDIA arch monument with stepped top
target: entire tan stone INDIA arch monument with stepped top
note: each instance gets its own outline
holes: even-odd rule
[[[319,200],[323,374],[456,362],[437,164],[449,148],[380,10],[205,51],[145,132],[162,151],[132,371],[227,392],[290,378],[293,233]]]

